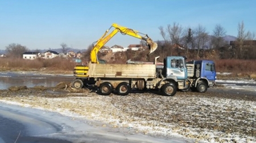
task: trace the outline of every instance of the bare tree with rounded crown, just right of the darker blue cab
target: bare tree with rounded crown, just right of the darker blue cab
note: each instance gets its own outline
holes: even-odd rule
[[[220,48],[221,46],[224,46],[225,41],[223,37],[226,36],[226,31],[220,24],[215,25],[215,28],[213,30],[213,36],[213,47]]]

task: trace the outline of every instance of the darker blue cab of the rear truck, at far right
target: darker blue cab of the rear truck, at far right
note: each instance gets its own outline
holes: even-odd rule
[[[204,74],[201,76],[206,77],[208,80],[216,80],[216,71],[214,63],[204,62],[203,64]]]

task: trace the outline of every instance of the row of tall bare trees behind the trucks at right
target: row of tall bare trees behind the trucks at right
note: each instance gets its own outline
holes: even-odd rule
[[[251,59],[256,58],[255,46],[246,44],[247,40],[255,40],[255,33],[245,31],[245,25],[243,21],[238,23],[237,27],[237,40],[236,44],[230,47],[228,41],[224,40],[226,36],[226,30],[220,24],[217,24],[212,33],[209,33],[205,27],[198,25],[196,28],[183,28],[179,23],[168,24],[166,28],[159,27],[160,34],[163,37],[163,48],[170,50],[170,54],[173,54],[172,45],[180,44],[185,47],[185,55],[188,56],[189,49],[193,50],[193,57],[191,58],[203,58],[200,56],[200,50],[210,49],[215,50],[219,54],[219,58],[234,58],[234,59]],[[212,36],[209,36],[212,34]],[[253,52],[253,55],[248,57],[248,51]],[[191,52],[190,52],[191,53]],[[223,57],[223,55],[225,55]],[[248,55],[248,56],[246,56]]]

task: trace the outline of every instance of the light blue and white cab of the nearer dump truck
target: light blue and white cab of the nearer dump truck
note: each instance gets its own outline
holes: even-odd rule
[[[178,80],[184,80],[187,78],[187,72],[185,71],[185,63],[182,59],[169,59],[167,61],[166,75],[176,76]]]

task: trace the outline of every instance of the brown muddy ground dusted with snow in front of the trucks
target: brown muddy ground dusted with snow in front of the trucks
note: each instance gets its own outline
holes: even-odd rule
[[[129,128],[129,133],[179,136],[195,142],[256,142],[256,96],[216,86],[206,93],[133,91],[128,96],[100,96],[95,90],[73,90],[64,83],[46,88],[0,90],[2,102],[50,111],[69,111],[100,121],[101,127]],[[97,124],[99,125],[99,124]]]

